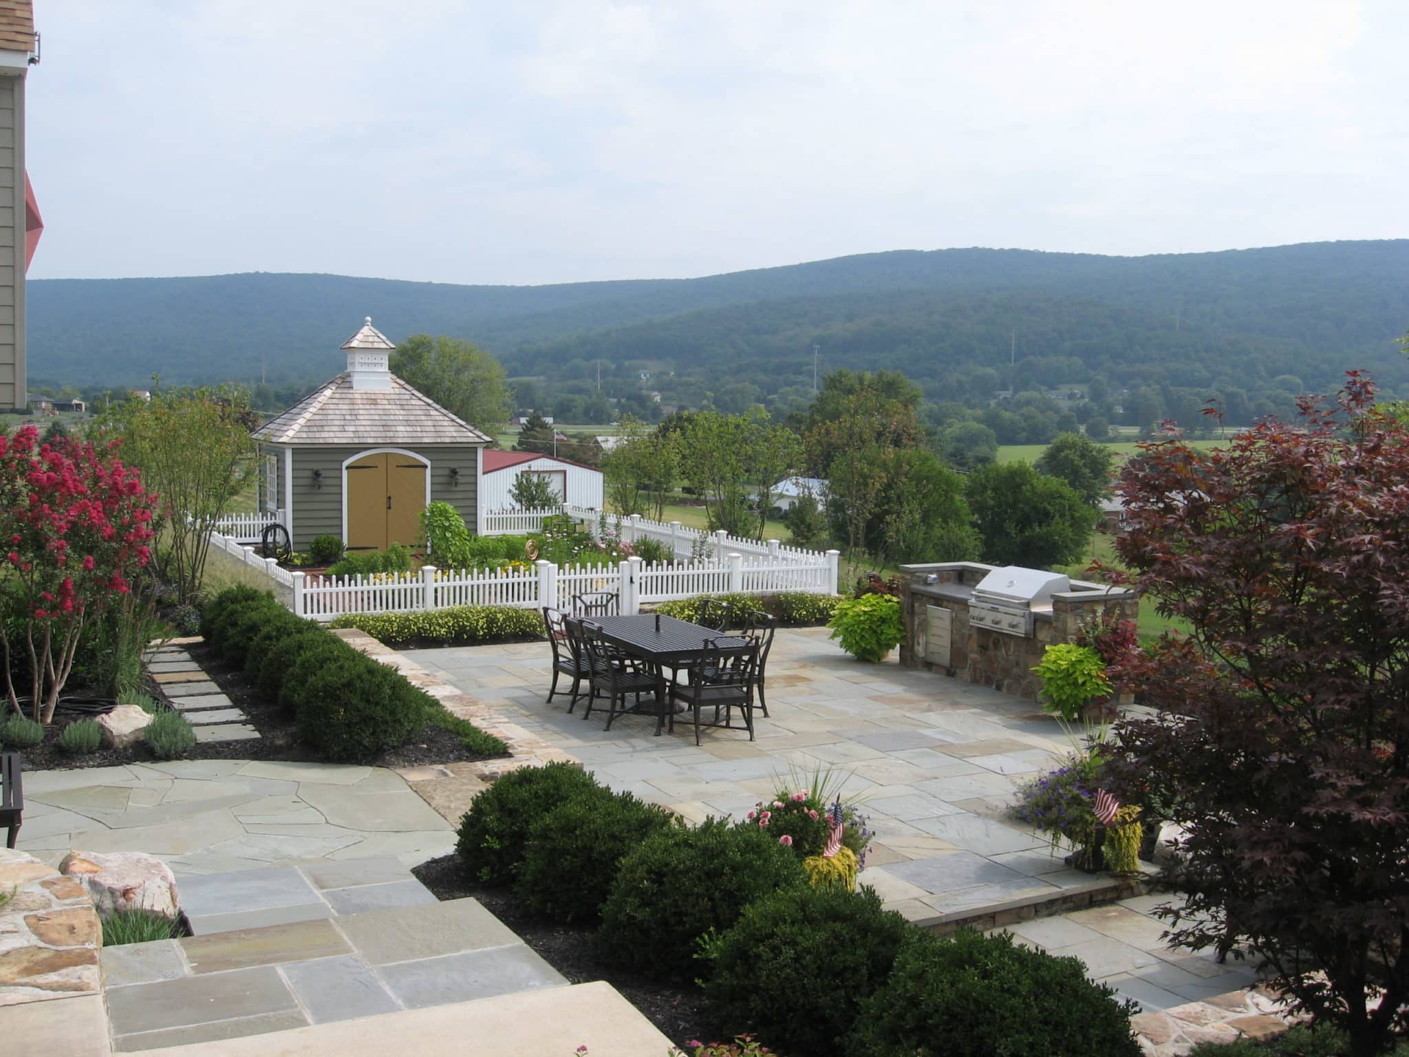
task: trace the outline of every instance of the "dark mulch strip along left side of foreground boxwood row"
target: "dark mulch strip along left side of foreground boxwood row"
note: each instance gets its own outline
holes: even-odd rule
[[[713,1027],[704,995],[693,985],[662,984],[634,972],[626,972],[614,965],[603,964],[593,950],[590,925],[558,925],[542,917],[534,917],[519,908],[519,899],[511,891],[502,888],[480,888],[469,882],[458,855],[441,855],[428,860],[411,871],[437,899],[462,899],[473,896],[495,917],[513,929],[544,961],[572,984],[586,984],[604,979],[657,1029],[676,1046],[685,1046],[692,1039],[710,1041],[720,1037]]]

